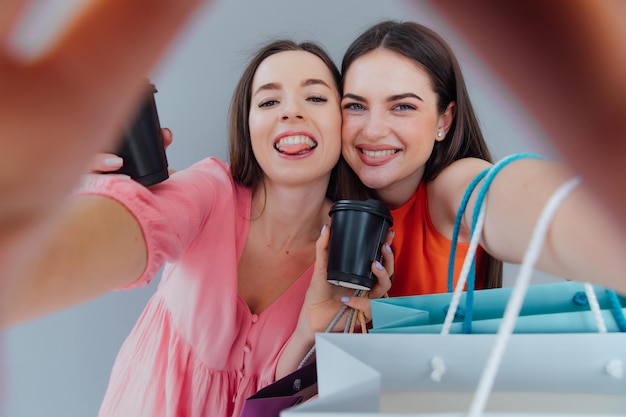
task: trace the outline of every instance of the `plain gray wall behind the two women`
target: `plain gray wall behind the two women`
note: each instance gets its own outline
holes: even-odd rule
[[[40,0],[44,7],[22,31],[36,45],[82,0]],[[532,151],[553,156],[543,133],[446,23],[427,5],[405,0],[222,0],[203,9],[150,75],[161,124],[174,132],[172,168],[200,158],[226,158],[226,115],[242,67],[275,37],[315,40],[337,63],[350,41],[383,19],[416,20],[442,34],[457,52],[482,127],[497,158]],[[115,63],[111,63],[115,65]],[[505,284],[516,267],[505,267]],[[535,282],[550,281],[539,274]],[[3,340],[4,417],[95,416],[115,355],[158,279],[9,329]]]

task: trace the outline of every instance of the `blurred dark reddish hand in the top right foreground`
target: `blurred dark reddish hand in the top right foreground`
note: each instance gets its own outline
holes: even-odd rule
[[[626,3],[432,1],[626,231]]]

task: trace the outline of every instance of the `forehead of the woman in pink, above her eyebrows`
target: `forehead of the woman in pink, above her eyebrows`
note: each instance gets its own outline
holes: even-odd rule
[[[306,51],[283,51],[261,62],[254,74],[252,88],[255,90],[268,83],[300,83],[307,79],[321,79],[335,87],[333,75],[321,58]]]

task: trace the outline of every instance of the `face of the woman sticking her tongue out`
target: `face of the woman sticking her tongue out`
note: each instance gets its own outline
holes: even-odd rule
[[[332,73],[314,54],[284,51],[259,65],[248,123],[266,178],[328,181],[341,152],[339,100]]]

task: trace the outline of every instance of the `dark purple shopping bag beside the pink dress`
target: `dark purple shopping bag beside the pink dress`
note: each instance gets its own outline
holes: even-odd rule
[[[316,363],[311,362],[247,398],[241,417],[278,417],[281,410],[317,395]]]

